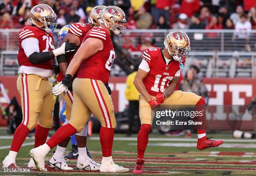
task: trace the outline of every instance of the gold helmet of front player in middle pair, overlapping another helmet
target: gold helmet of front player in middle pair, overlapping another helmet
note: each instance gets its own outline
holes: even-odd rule
[[[102,22],[114,35],[121,36],[124,33],[126,23],[125,13],[117,6],[108,6],[102,10]]]

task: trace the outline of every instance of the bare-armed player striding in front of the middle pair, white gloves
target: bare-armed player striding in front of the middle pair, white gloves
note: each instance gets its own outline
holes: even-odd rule
[[[125,29],[125,14],[116,6],[102,10],[100,27],[87,32],[82,45],[69,63],[64,79],[54,86],[52,93],[59,95],[73,88],[71,119],[67,125],[56,131],[44,145],[33,148],[30,155],[37,168],[46,171],[44,158],[46,154],[74,133],[83,130],[93,113],[101,122],[100,143],[102,162],[100,172],[127,172],[128,168],[118,166],[112,159],[112,145],[116,126],[112,99],[105,83],[108,82],[110,70],[115,58],[111,34],[121,36]],[[77,78],[72,78],[79,70]]]

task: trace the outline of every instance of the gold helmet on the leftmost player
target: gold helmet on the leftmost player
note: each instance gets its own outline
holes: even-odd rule
[[[52,33],[57,27],[57,15],[49,5],[38,4],[30,10],[30,23]]]

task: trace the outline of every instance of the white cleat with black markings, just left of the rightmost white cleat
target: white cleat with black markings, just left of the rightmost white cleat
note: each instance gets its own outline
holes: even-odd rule
[[[100,163],[96,163],[89,156],[86,156],[84,160],[77,159],[77,169],[78,170],[89,170],[89,171],[99,171]]]

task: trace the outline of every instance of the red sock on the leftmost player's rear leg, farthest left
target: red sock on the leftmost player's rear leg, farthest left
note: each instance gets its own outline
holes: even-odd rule
[[[10,151],[18,152],[20,150],[21,145],[25,141],[26,137],[28,136],[28,133],[30,130],[28,127],[26,127],[23,123],[20,123],[18,128],[15,130],[15,133],[13,135],[13,141],[10,148]]]

